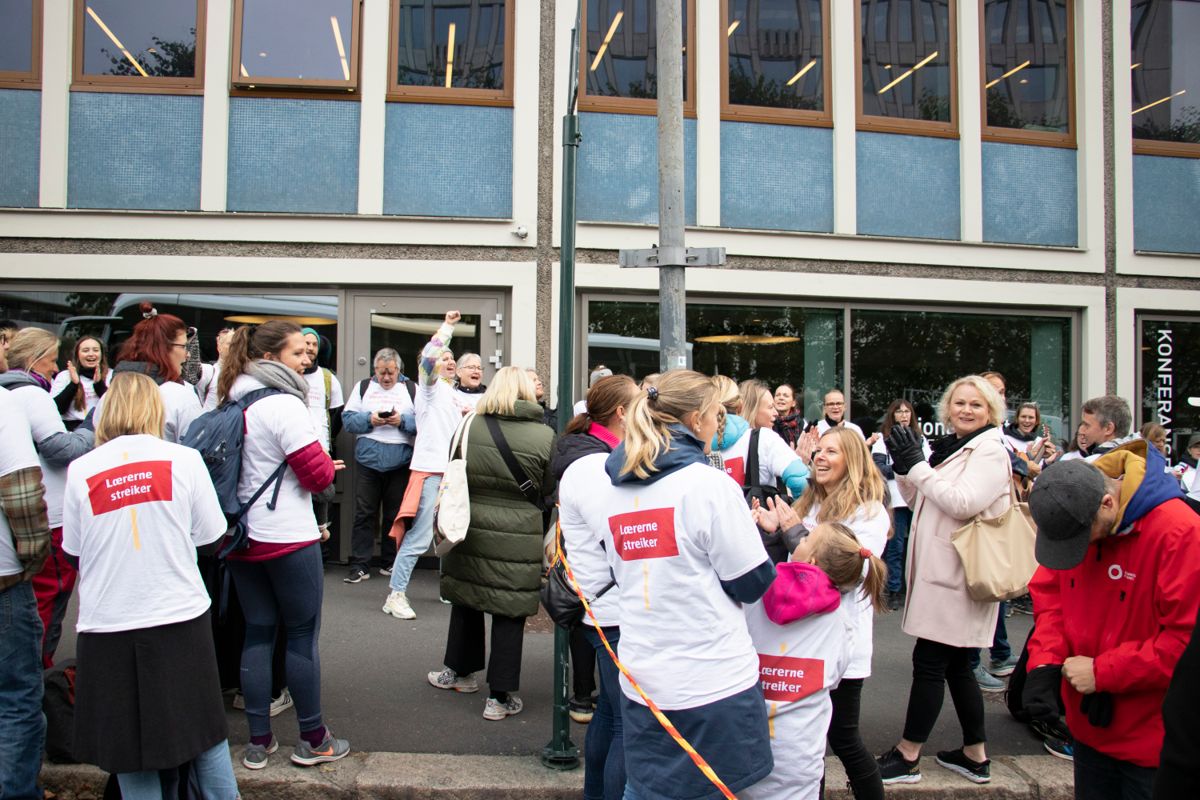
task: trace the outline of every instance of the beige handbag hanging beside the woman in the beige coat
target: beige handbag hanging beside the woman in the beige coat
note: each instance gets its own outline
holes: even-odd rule
[[[967,594],[976,602],[1020,597],[1038,569],[1028,504],[1018,501],[1012,480],[1008,494],[1012,503],[1004,513],[990,519],[977,516],[950,534],[967,576]]]

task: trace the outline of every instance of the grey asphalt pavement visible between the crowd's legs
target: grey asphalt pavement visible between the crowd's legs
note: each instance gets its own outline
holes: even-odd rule
[[[359,752],[534,756],[551,739],[553,636],[545,615],[526,626],[521,691],[524,710],[492,722],[482,718],[486,687],[476,694],[433,688],[426,673],[442,668],[450,607],[439,602],[437,573],[418,570],[409,587],[415,620],[382,613],[388,578],[372,570],[370,581],[346,584],[346,569],[325,572],[320,632],[322,703],[325,722]],[[72,601],[58,657],[74,655],[76,603]],[[1009,640],[1019,651],[1032,618],[1008,619]],[[881,753],[895,744],[904,727],[911,679],[913,639],[900,630],[900,614],[875,622],[872,676],[863,691],[862,730],[866,746]],[[1040,741],[1015,722],[1003,694],[985,694],[988,750],[991,756],[1044,754]],[[248,740],[242,712],[229,709],[230,742]],[[283,745],[298,738],[295,712],[275,717],[274,733]],[[571,723],[582,748],[586,726]],[[947,696],[928,752],[961,745],[958,721]]]

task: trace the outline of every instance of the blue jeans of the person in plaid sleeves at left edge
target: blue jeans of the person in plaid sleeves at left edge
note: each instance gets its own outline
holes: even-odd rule
[[[5,800],[40,800],[37,775],[46,746],[42,620],[28,581],[0,591],[0,742]]]

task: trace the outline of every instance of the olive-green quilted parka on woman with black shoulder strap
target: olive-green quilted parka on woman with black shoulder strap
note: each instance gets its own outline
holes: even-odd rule
[[[552,498],[554,432],[542,425],[541,407],[517,401],[511,416],[496,419],[539,497]],[[467,539],[442,559],[442,596],[488,614],[536,614],[542,512],[517,487],[482,416],[472,421],[468,432],[467,487],[470,527]]]

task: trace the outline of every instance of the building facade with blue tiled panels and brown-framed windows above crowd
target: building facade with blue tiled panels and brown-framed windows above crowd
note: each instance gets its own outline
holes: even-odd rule
[[[871,422],[998,369],[1061,438],[1115,391],[1200,431],[1200,2],[682,0],[692,365]],[[577,71],[577,374],[658,369],[653,0],[20,0],[0,317],[115,342],[318,326],[344,384],[446,308],[557,363]],[[12,11],[8,11],[12,10]],[[406,365],[412,371],[413,365]],[[551,375],[551,386],[562,375]]]

